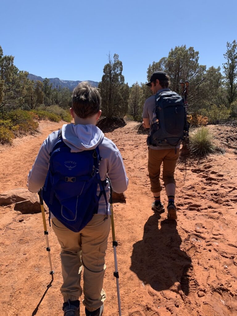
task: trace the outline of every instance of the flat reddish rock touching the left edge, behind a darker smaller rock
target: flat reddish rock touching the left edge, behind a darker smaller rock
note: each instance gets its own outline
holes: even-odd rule
[[[25,188],[18,188],[0,193],[0,205],[9,205],[21,201],[31,200],[32,203],[39,201],[38,194],[32,193]]]

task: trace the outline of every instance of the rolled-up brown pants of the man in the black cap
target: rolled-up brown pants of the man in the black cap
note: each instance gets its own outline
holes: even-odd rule
[[[174,170],[179,157],[179,148],[176,149],[150,149],[148,151],[148,173],[151,183],[151,192],[160,192],[161,164],[163,162],[162,180],[165,186],[174,183]]]

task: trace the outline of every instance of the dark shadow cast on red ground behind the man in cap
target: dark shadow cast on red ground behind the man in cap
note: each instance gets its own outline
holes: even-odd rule
[[[191,258],[180,249],[182,240],[176,229],[177,222],[166,219],[158,228],[160,218],[155,213],[146,222],[143,240],[133,245],[130,269],[156,291],[170,289],[179,282],[178,290],[188,295],[189,279],[186,274],[192,269]]]

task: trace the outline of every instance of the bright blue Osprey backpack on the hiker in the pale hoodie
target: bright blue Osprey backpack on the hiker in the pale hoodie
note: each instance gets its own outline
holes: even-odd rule
[[[67,228],[79,232],[98,212],[99,199],[105,193],[106,180],[101,181],[99,148],[71,153],[63,142],[61,130],[50,154],[49,170],[42,198],[49,211]],[[97,196],[97,186],[100,194]],[[108,215],[108,213],[107,213]]]

